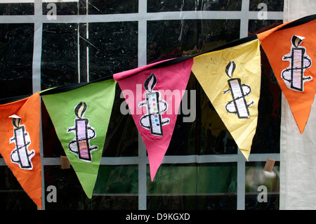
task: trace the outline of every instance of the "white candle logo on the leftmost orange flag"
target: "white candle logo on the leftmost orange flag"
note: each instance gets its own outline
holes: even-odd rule
[[[13,124],[13,137],[10,138],[10,144],[15,143],[15,149],[12,150],[10,159],[11,162],[18,164],[20,169],[33,169],[31,162],[32,157],[35,155],[34,150],[28,150],[31,144],[29,133],[25,130],[24,125],[20,125],[21,118],[17,115],[10,116]]]

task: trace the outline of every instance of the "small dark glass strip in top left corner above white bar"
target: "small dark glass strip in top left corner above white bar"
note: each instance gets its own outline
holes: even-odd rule
[[[0,15],[33,15],[34,3],[0,4]]]

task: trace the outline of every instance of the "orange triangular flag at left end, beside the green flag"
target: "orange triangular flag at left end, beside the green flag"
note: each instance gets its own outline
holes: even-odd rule
[[[39,93],[0,105],[0,152],[15,178],[41,209]]]

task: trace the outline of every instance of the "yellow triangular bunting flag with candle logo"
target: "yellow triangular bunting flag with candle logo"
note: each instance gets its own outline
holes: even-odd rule
[[[236,43],[197,55],[192,72],[248,159],[258,120],[260,42],[252,36]]]

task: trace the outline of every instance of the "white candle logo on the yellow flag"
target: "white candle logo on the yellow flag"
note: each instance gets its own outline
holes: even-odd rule
[[[234,61],[230,61],[228,65],[226,66],[225,72],[228,75],[228,77],[232,78],[232,74],[235,72],[236,64]],[[228,86],[229,88],[225,91],[223,91],[223,94],[225,95],[230,91],[232,94],[232,100],[230,100],[226,106],[225,109],[227,112],[232,114],[237,114],[238,118],[249,118],[249,110],[248,107],[254,104],[254,101],[251,100],[250,103],[246,102],[246,96],[248,96],[251,93],[250,86],[247,86],[246,84],[242,84],[241,79],[228,79]]]

